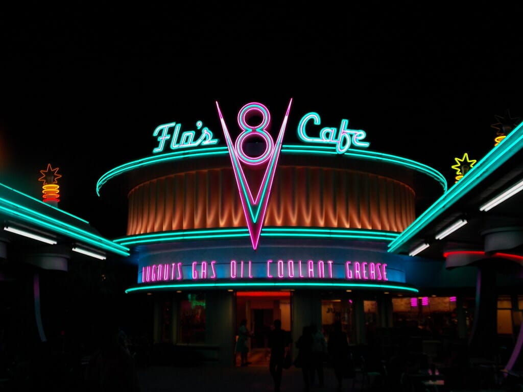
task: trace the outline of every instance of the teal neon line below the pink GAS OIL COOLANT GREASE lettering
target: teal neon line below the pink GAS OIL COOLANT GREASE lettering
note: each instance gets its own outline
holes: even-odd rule
[[[158,284],[158,285],[147,285],[139,287],[131,287],[126,290],[126,293],[132,293],[135,291],[153,291],[153,290],[165,290],[165,289],[214,289],[219,287],[225,287],[232,289],[239,287],[241,289],[253,289],[254,287],[264,288],[279,288],[279,287],[332,287],[333,289],[383,289],[383,290],[402,290],[417,293],[418,289],[414,287],[406,287],[402,285],[394,284],[378,284],[378,283],[334,283],[334,282],[214,282],[214,283],[183,283],[183,284]]]

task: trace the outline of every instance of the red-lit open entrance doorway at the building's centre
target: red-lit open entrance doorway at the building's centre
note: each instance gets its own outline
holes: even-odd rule
[[[269,332],[276,319],[281,327],[291,330],[291,293],[289,291],[238,291],[236,293],[236,328],[247,320],[247,329],[252,333],[248,339],[248,361],[251,366],[268,366],[270,348]],[[236,364],[240,363],[239,354]]]

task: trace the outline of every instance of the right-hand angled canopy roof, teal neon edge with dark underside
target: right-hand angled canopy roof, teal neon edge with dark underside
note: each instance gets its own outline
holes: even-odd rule
[[[428,247],[417,255],[437,259],[458,249],[488,251],[491,247],[486,246],[485,236],[496,231],[510,232],[511,236],[520,233],[523,238],[523,192],[515,192],[488,211],[483,207],[522,181],[523,123],[394,239],[388,251],[407,255],[425,244]],[[442,239],[436,239],[442,230],[461,220],[467,224]],[[523,247],[518,245],[520,242],[511,240],[497,246],[510,249],[510,253],[523,254]]]

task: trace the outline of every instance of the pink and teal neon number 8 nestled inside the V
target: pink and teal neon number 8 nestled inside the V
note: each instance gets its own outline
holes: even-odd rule
[[[254,116],[261,117],[259,124],[251,125],[248,120]],[[261,165],[270,158],[272,150],[274,149],[274,141],[272,136],[267,132],[270,125],[270,113],[267,107],[261,103],[252,102],[247,103],[238,112],[238,125],[244,131],[238,135],[234,145],[238,158],[246,165]],[[245,141],[252,137],[258,137],[265,142],[265,151],[259,156],[253,157],[247,155],[243,151]]]

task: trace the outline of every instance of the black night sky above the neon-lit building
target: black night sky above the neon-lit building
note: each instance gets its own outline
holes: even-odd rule
[[[98,197],[98,178],[151,155],[159,124],[221,136],[215,100],[292,97],[296,116],[349,119],[449,181],[455,156],[492,148],[494,116],[523,118],[517,5],[248,3],[3,5],[0,182],[40,198],[39,170],[59,166],[60,207],[111,238],[126,200]]]

